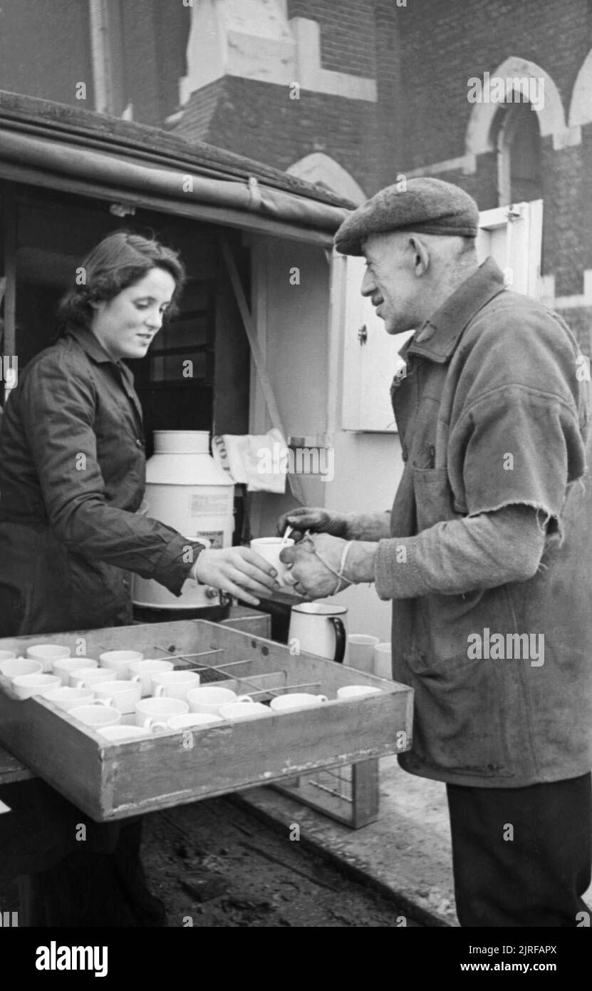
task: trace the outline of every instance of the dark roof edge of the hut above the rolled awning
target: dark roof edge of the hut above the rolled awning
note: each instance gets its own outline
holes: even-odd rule
[[[147,124],[109,117],[67,103],[0,90],[0,125],[3,121],[10,122],[15,130],[25,130],[38,137],[50,132],[53,138],[62,135],[69,141],[84,142],[86,147],[123,153],[142,162],[175,168],[186,166],[212,178],[245,180],[254,176],[269,188],[295,196],[345,209],[356,206],[348,199],[271,165],[203,142],[188,142]]]

